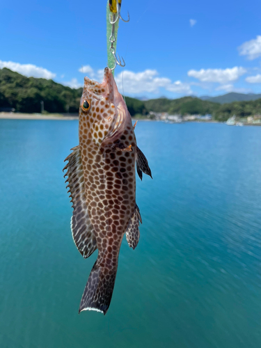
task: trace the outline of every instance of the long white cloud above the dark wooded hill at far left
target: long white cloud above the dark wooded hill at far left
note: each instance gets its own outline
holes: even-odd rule
[[[40,68],[33,64],[20,64],[11,61],[0,61],[0,68],[8,68],[27,77],[42,77],[43,79],[54,79],[54,77],[56,77],[56,74],[54,74],[53,72],[50,72],[45,68]]]

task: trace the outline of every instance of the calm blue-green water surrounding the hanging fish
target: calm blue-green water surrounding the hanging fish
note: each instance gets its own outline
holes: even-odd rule
[[[261,347],[261,127],[138,122],[154,180],[111,307],[78,315],[97,252],[70,232],[77,121],[0,120],[1,348]]]

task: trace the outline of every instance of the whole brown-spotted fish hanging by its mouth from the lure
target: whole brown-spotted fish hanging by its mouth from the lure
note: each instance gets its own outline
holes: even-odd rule
[[[109,309],[122,238],[135,249],[141,213],[136,205],[135,166],[152,177],[148,160],[136,145],[132,118],[109,68],[102,83],[84,78],[79,107],[79,145],[65,161],[73,207],[74,244],[84,258],[97,260],[81,298],[79,313]]]

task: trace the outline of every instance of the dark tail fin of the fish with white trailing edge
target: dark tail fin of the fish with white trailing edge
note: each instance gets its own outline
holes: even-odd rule
[[[100,267],[96,261],[81,297],[79,313],[82,310],[96,310],[104,315],[109,309],[116,280],[116,267]]]

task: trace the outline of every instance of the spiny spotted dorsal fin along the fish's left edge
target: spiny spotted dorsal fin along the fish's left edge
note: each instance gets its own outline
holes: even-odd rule
[[[72,148],[73,152],[65,158],[68,164],[63,168],[68,176],[70,197],[72,198],[72,238],[81,255],[88,258],[96,250],[97,244],[93,233],[93,226],[87,212],[86,193],[84,187],[84,171],[81,163],[81,150],[79,145]]]

